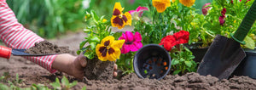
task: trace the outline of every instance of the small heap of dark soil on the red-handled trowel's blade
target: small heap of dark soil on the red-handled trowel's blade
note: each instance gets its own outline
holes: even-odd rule
[[[58,47],[48,41],[36,42],[35,46],[26,49],[25,53],[69,53],[68,47]]]

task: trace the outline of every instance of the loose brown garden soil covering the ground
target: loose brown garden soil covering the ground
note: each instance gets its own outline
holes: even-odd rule
[[[54,40],[48,40],[50,43],[54,43],[58,46],[68,46],[71,50],[71,54],[76,55],[76,51],[79,49],[79,43],[84,41],[84,33],[77,32],[66,37],[60,37]],[[78,81],[73,76],[69,76],[65,73],[57,72],[55,74],[50,74],[49,71],[40,67],[18,56],[11,56],[10,59],[0,59],[0,76],[3,73],[9,72],[9,81],[15,81],[16,74],[19,75],[20,79],[23,81],[18,86],[20,87],[31,87],[32,84],[43,84],[49,88],[52,88],[49,83],[55,82],[55,78],[59,79],[62,76],[66,76],[70,82]],[[110,64],[112,65],[112,64]],[[97,65],[96,65],[97,66]],[[97,68],[102,68],[98,66]],[[111,69],[110,69],[111,70]],[[95,72],[86,72],[91,75],[97,75]],[[94,73],[94,74],[93,74]],[[112,72],[109,72],[109,74]],[[101,78],[101,79],[100,79]],[[107,79],[108,78],[108,79]],[[0,81],[0,83],[9,85],[8,82]],[[79,81],[75,87],[72,89],[81,89],[86,86],[87,89],[138,89],[138,90],[148,90],[148,89],[256,89],[256,80],[247,76],[234,76],[228,80],[218,80],[214,76],[200,76],[197,73],[187,73],[183,76],[173,76],[167,75],[160,81],[155,79],[141,79],[137,77],[135,73],[123,76],[120,79],[115,79],[113,77],[96,76],[87,78],[84,77],[83,81]]]

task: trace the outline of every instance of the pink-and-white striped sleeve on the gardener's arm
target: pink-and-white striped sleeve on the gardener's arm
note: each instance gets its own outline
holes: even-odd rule
[[[34,32],[27,30],[15,17],[5,0],[0,0],[0,39],[9,48],[31,48],[35,42],[44,41]],[[24,57],[54,73],[51,68],[56,55],[41,57]]]

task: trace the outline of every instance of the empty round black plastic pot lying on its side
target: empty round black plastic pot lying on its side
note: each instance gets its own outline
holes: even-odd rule
[[[158,44],[148,44],[140,48],[134,56],[133,67],[141,78],[164,78],[171,69],[171,56]]]

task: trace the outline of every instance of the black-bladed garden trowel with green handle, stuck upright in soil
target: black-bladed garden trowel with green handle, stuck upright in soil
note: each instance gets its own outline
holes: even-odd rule
[[[218,79],[228,79],[231,73],[245,58],[246,53],[241,48],[241,44],[245,44],[243,39],[247,36],[254,21],[256,20],[256,1],[248,10],[246,16],[241,21],[238,29],[234,34],[230,34],[232,38],[217,35],[207,53],[199,65],[197,72],[201,76],[216,76]]]

